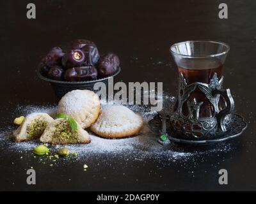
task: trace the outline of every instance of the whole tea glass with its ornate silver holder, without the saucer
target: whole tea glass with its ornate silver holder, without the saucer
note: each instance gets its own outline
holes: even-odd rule
[[[229,46],[219,41],[184,41],[170,48],[179,71],[179,90],[171,114],[173,129],[189,140],[225,133],[234,110],[223,89],[223,64]]]

